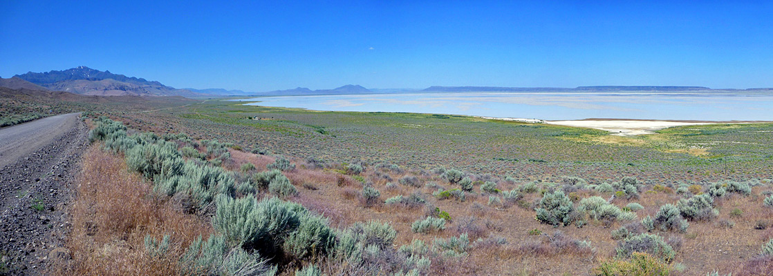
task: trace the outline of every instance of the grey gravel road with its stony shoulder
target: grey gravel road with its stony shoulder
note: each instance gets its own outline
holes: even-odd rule
[[[47,274],[63,241],[73,180],[88,146],[78,113],[0,129],[0,274]]]

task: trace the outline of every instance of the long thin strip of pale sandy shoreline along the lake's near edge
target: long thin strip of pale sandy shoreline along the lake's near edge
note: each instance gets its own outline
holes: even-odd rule
[[[656,130],[662,130],[673,126],[694,126],[716,123],[769,123],[768,121],[700,121],[700,120],[658,120],[658,119],[577,119],[548,121],[543,119],[523,118],[495,118],[480,116],[483,119],[501,119],[523,123],[547,123],[559,126],[587,127],[596,130],[605,130],[612,135],[634,136],[652,134]]]

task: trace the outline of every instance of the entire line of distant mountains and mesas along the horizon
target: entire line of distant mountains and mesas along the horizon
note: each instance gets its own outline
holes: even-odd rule
[[[344,95],[380,93],[453,93],[453,92],[770,92],[771,89],[710,89],[703,86],[577,86],[560,87],[497,87],[497,86],[430,86],[426,89],[366,89],[359,85],[346,85],[335,89],[295,89],[269,92],[245,92],[226,89],[175,89],[158,81],[114,74],[86,66],[49,72],[27,72],[10,79],[0,78],[0,86],[11,89],[51,90],[90,96],[184,96],[206,98],[223,96],[302,96]]]

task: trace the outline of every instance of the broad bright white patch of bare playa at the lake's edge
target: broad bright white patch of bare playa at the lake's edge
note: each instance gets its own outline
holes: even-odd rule
[[[670,121],[638,121],[638,120],[579,120],[579,121],[545,121],[551,125],[587,127],[606,130],[618,136],[652,134],[671,126],[707,125],[710,123],[686,123]]]

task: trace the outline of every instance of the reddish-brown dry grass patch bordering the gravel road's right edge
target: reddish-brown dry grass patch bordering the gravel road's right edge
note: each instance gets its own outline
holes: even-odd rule
[[[83,156],[77,197],[70,215],[73,229],[66,247],[72,260],[55,266],[66,275],[173,275],[190,241],[212,233],[209,223],[183,214],[170,200],[152,196],[149,183],[130,173],[122,157],[105,153],[99,144]],[[171,236],[169,254],[151,257],[145,235],[159,241]]]

